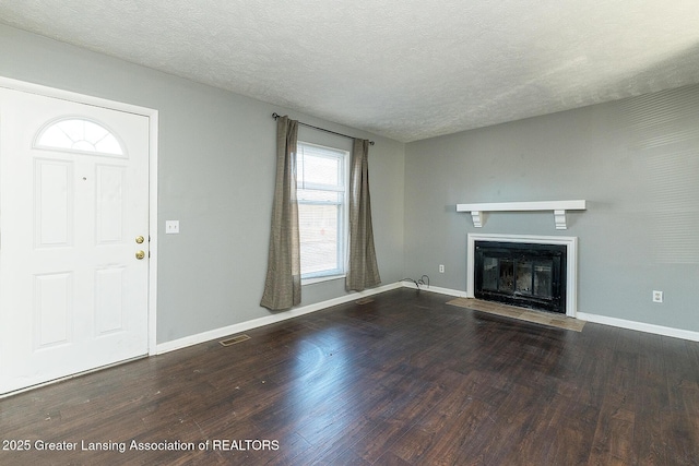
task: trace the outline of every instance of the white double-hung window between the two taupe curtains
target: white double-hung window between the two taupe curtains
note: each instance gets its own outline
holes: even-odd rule
[[[296,158],[301,278],[345,273],[348,152],[299,142]]]

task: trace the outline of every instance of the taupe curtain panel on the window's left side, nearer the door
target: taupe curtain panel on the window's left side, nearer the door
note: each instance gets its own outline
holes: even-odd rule
[[[301,265],[296,202],[298,121],[276,120],[276,184],[266,280],[260,306],[277,311],[301,301]]]

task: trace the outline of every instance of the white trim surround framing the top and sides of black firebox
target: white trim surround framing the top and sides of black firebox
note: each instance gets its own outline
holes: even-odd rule
[[[566,247],[566,315],[578,313],[578,238],[569,236],[469,234],[466,246],[466,298],[475,298],[476,241],[529,242],[535,244],[561,244]]]

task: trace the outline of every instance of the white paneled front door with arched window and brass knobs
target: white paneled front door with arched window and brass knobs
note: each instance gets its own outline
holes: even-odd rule
[[[146,355],[147,297],[149,118],[0,88],[0,394]]]

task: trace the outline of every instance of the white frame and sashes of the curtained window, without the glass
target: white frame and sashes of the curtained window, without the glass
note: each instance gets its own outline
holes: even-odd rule
[[[334,191],[342,192],[342,201],[301,201],[297,196],[297,203],[299,206],[301,204],[306,205],[337,205],[340,206],[340,218],[337,225],[337,267],[332,270],[325,270],[320,272],[311,272],[304,274],[301,273],[301,285],[311,285],[315,283],[327,282],[332,279],[339,279],[346,276],[347,273],[347,251],[348,251],[348,238],[350,238],[350,151],[315,144],[307,141],[297,141],[297,162],[296,167],[298,168],[298,157],[301,157],[303,151],[301,146],[317,148],[321,151],[327,151],[330,153],[337,154],[336,156],[329,156],[329,158],[341,158],[342,166],[342,188],[337,188],[335,184],[322,184],[322,183],[309,183],[305,180],[297,179],[296,187],[297,190],[308,189],[308,190],[318,190],[318,191]],[[297,178],[300,177],[299,171],[297,170]],[[300,225],[299,225],[300,228]],[[303,261],[303,259],[301,259]]]

